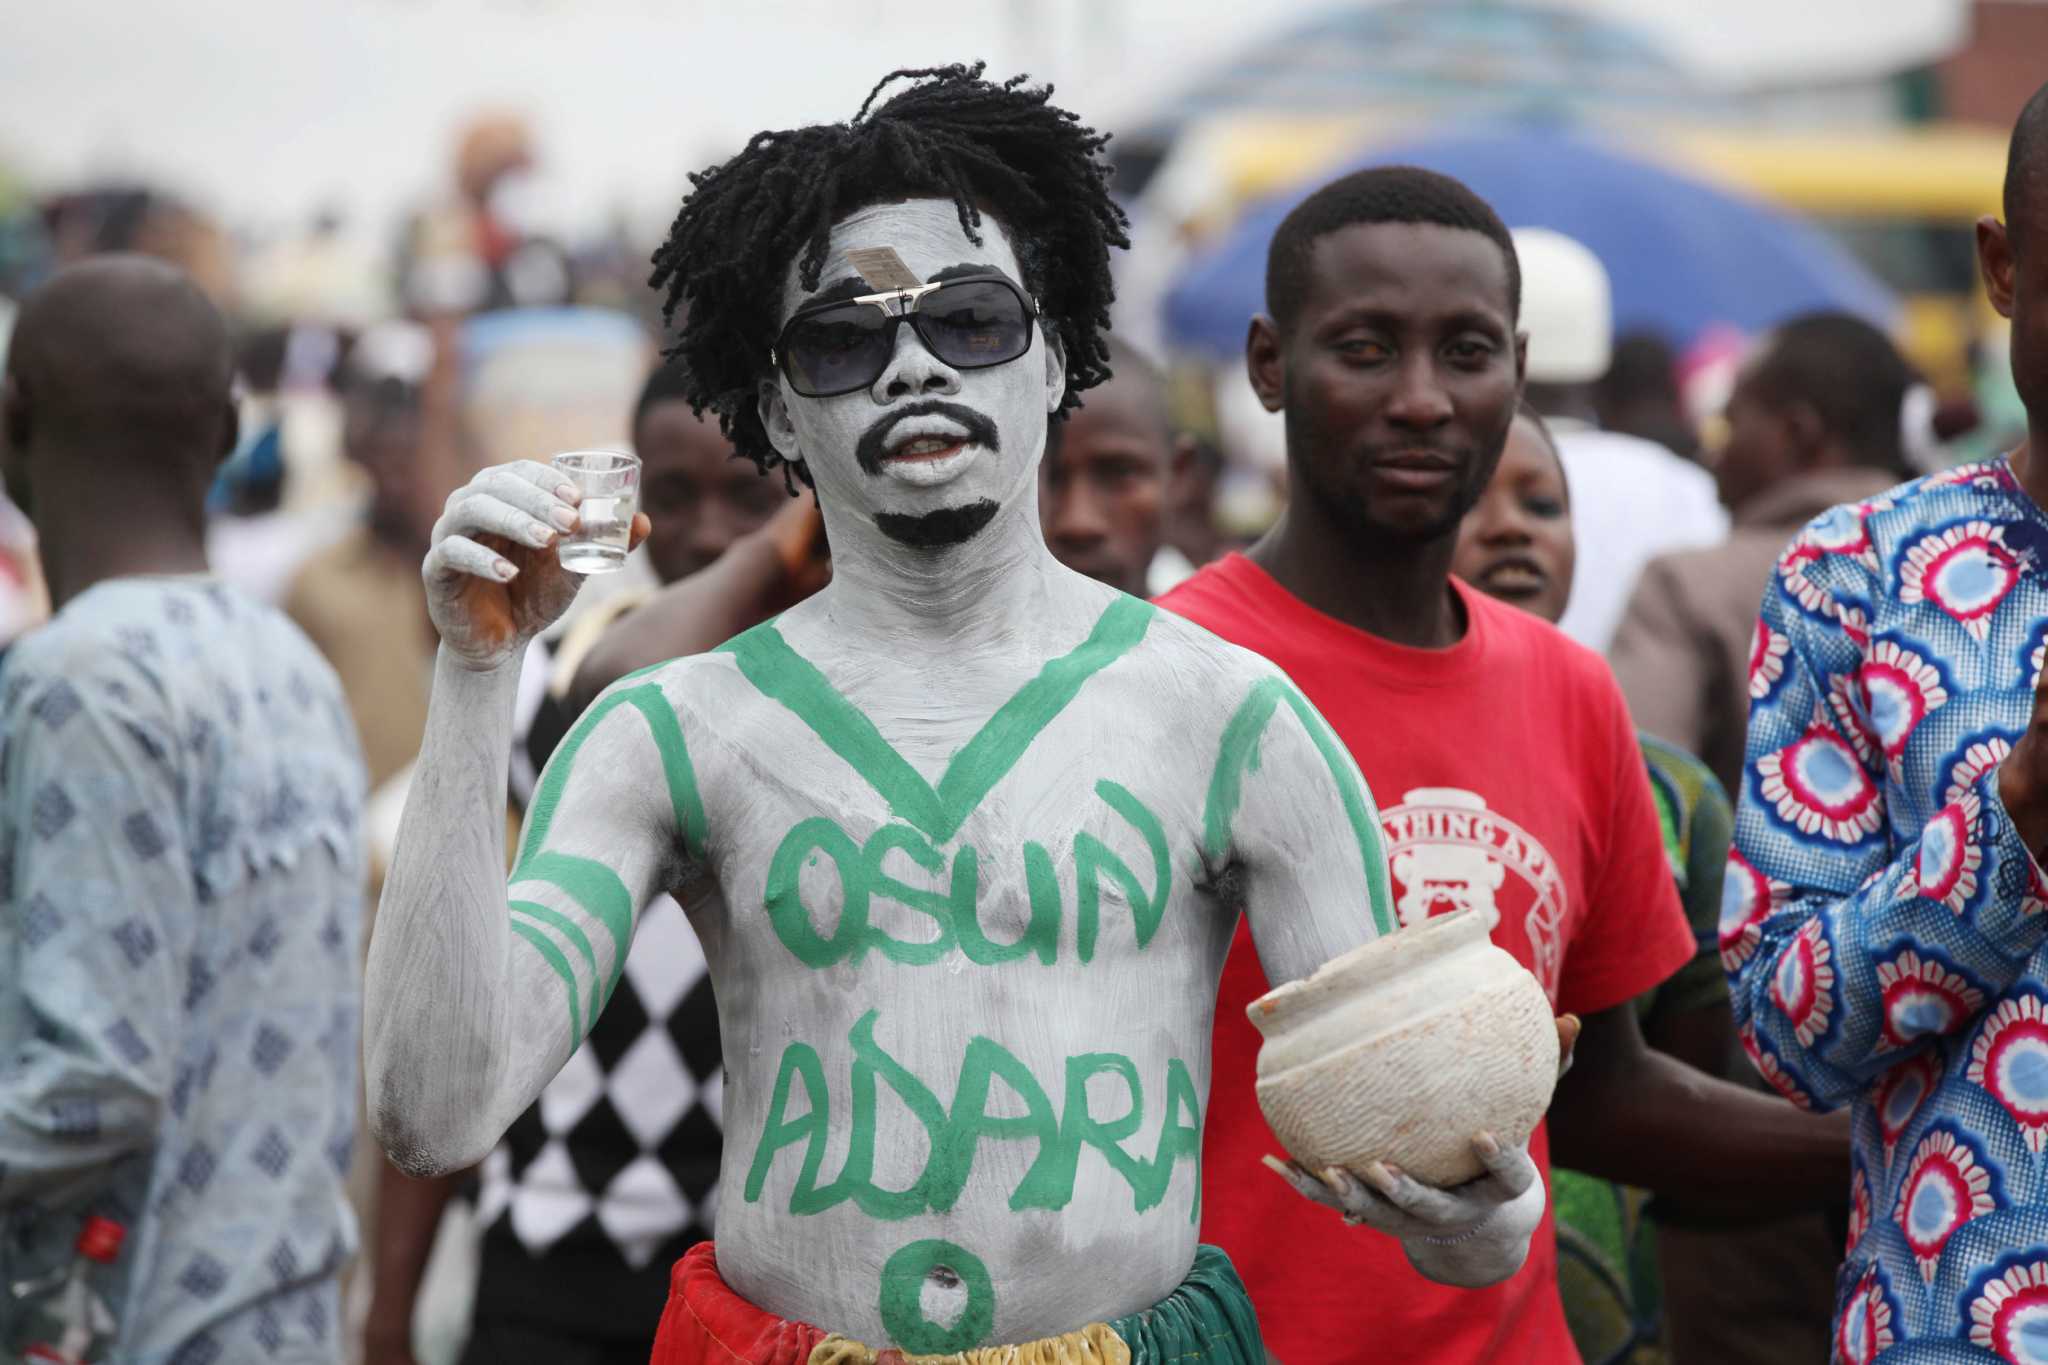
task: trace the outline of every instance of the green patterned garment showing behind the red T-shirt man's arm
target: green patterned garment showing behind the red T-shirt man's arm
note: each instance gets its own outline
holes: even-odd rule
[[[1636,997],[1636,1013],[1681,1015],[1729,1003],[1720,970],[1720,878],[1735,812],[1700,759],[1649,735],[1636,737],[1657,798],[1665,860],[1677,882],[1698,952],[1661,986]],[[1663,1281],[1649,1195],[1577,1171],[1550,1173],[1556,1209],[1556,1287],[1565,1324],[1587,1365],[1663,1365]]]

